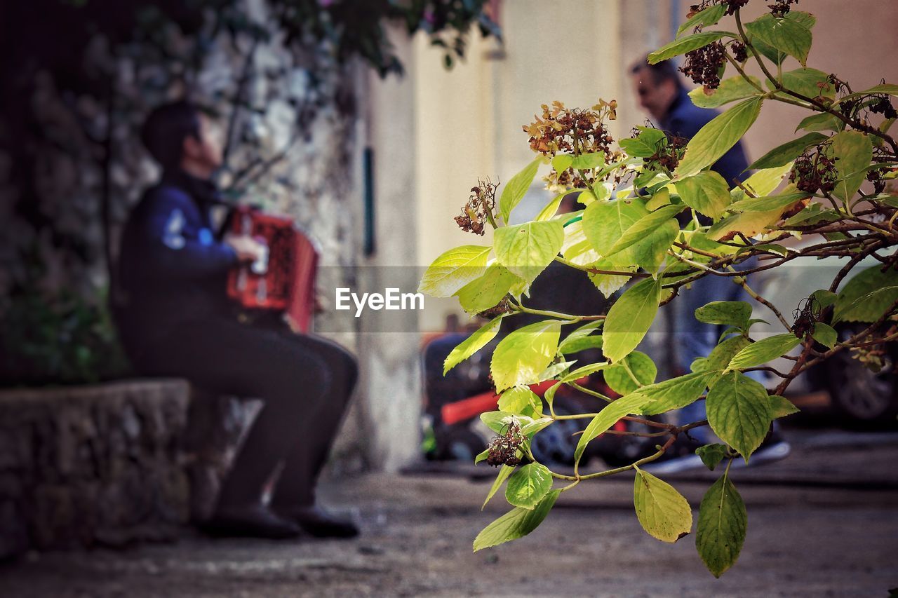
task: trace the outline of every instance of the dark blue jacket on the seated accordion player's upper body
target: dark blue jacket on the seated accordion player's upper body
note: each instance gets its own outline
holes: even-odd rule
[[[147,189],[122,233],[116,312],[123,336],[143,344],[183,321],[228,312],[227,272],[237,255],[213,231],[212,183],[166,172]]]

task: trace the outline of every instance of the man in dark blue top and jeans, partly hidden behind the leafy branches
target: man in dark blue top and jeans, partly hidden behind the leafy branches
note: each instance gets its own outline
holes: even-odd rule
[[[647,57],[644,57],[630,68],[630,79],[639,98],[639,104],[652,119],[655,119],[658,128],[664,130],[667,135],[689,140],[719,114],[717,110],[700,108],[692,103],[676,66],[669,60],[649,65]],[[748,160],[745,158],[742,141],[736,142],[711,166],[711,170],[718,172],[730,187],[735,186],[736,180],[747,178],[749,174],[747,169]],[[686,210],[682,214],[691,220],[691,210]],[[697,321],[695,310],[712,301],[741,301],[747,296],[729,277],[711,276],[700,278],[692,283],[690,288],[681,289],[681,295],[672,303],[674,375],[688,374],[693,360],[708,356],[711,349],[717,346],[718,339],[725,329],[724,326]],[[704,419],[706,417],[704,401],[697,400],[690,406],[680,409],[676,417],[679,424]],[[700,444],[718,442],[718,438],[707,426],[695,428],[690,434]],[[674,459],[669,458],[665,463],[667,470],[685,469],[701,464],[699,457],[692,453],[694,445],[682,443],[675,448],[684,454],[678,455],[674,450],[670,455]],[[788,444],[774,431],[767,442],[754,453],[753,463],[781,459],[788,452]],[[684,458],[676,459],[677,456]]]

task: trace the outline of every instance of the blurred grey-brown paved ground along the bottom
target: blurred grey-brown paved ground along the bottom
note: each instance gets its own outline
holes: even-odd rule
[[[748,539],[716,580],[692,536],[642,532],[630,479],[581,485],[524,540],[476,554],[506,510],[489,483],[369,476],[330,485],[355,505],[358,541],[209,541],[31,555],[0,567],[0,595],[53,596],[886,596],[898,585],[898,434],[791,430],[784,462],[735,472]],[[667,476],[693,506],[708,482]],[[583,488],[585,487],[585,488]]]

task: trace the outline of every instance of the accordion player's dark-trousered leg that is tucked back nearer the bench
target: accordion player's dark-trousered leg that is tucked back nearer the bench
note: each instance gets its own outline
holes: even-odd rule
[[[225,519],[239,523],[241,513],[249,513],[250,520],[256,515],[264,519],[259,510],[266,482],[295,444],[307,414],[320,410],[328,397],[331,379],[325,361],[277,332],[210,319],[184,324],[168,342],[147,351],[142,365],[148,374],[182,376],[212,391],[264,400],[217,507],[219,519],[226,514]],[[278,535],[277,525],[270,527]],[[251,528],[249,524],[247,532],[256,535]]]

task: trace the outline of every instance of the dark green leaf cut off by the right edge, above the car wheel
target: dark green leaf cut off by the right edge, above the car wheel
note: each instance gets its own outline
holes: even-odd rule
[[[889,268],[867,268],[851,277],[839,292],[832,323],[840,321],[873,322],[879,320],[898,300],[898,272]]]

